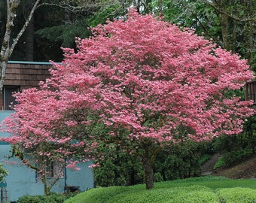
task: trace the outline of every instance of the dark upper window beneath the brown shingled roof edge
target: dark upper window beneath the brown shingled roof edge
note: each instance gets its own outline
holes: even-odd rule
[[[15,98],[13,96],[14,92],[19,92],[19,86],[4,86],[4,110],[5,111],[13,111],[14,105],[17,105]]]

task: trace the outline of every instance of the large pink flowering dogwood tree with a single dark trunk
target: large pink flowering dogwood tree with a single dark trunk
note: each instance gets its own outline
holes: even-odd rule
[[[17,95],[12,144],[30,149],[44,139],[60,144],[63,155],[78,147],[78,154],[99,156],[99,143],[114,142],[139,156],[151,189],[163,147],[237,134],[253,114],[251,102],[229,93],[253,79],[246,61],[192,30],[131,10],[92,31],[78,39],[77,51],[65,50],[39,90]],[[95,123],[107,137],[88,129]]]

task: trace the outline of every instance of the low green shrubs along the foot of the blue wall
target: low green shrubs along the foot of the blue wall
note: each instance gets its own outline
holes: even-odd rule
[[[78,192],[69,192],[68,194],[50,193],[50,195],[24,195],[17,200],[17,203],[62,203],[77,194]]]

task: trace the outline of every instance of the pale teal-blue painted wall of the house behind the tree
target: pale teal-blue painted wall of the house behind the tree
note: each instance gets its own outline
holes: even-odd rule
[[[0,111],[0,122],[9,117],[13,111]],[[0,132],[0,137],[8,136],[7,133]],[[23,195],[42,195],[44,194],[44,185],[41,180],[37,180],[35,170],[24,166],[20,159],[11,158],[11,145],[0,143],[0,162],[9,171],[5,178],[8,190],[8,200],[17,201]],[[64,192],[65,182],[68,186],[79,186],[81,191],[93,188],[93,173],[88,166],[90,162],[78,165],[80,171],[66,169],[66,177],[61,178],[51,189],[51,192]]]

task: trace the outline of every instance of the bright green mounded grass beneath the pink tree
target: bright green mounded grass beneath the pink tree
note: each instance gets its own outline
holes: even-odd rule
[[[197,177],[145,185],[111,186],[90,189],[65,203],[231,203],[256,202],[255,180],[230,180],[225,177]]]

